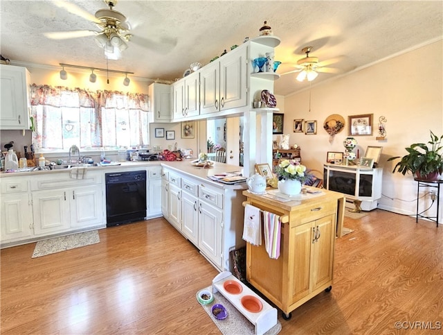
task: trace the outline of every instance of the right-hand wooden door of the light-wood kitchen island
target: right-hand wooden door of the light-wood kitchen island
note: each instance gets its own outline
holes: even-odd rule
[[[325,216],[315,221],[316,242],[311,264],[311,291],[332,280],[334,263],[335,216]]]

